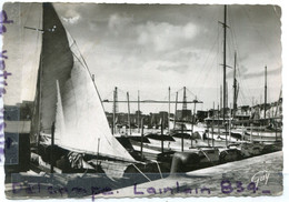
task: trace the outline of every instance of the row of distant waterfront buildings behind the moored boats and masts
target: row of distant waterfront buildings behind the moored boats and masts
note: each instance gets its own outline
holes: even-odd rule
[[[260,121],[263,119],[263,112],[265,107],[263,104],[257,104],[253,107],[250,105],[240,105],[237,108],[236,112],[232,111],[232,109],[226,108],[220,109],[219,111],[217,109],[210,109],[208,111],[198,110],[196,113],[196,121],[197,122],[219,122],[220,124],[223,122],[223,112],[226,113],[225,120],[228,121],[229,119],[232,120],[233,124],[241,124],[241,125],[249,125],[252,121],[255,124],[265,124],[272,119],[278,119],[281,124],[282,119],[282,99],[280,99],[277,102],[268,103],[266,105],[266,118],[267,121]],[[112,113],[106,112],[108,121],[110,125],[112,125]],[[138,120],[139,119],[139,120]],[[172,121],[175,119],[175,114],[170,114],[170,120]],[[149,113],[149,114],[142,114],[141,111],[136,111],[136,113],[130,114],[130,125],[131,128],[138,127],[138,124],[141,123],[141,120],[143,120],[143,125],[146,128],[160,128],[161,120],[163,120],[165,128],[168,127],[168,112],[167,111],[160,111],[158,113]],[[177,110],[176,114],[177,121],[192,121],[192,111],[191,110]],[[128,113],[117,113],[116,114],[116,123],[118,125],[128,125]]]

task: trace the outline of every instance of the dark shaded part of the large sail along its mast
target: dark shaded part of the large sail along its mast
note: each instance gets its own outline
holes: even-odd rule
[[[56,119],[57,85],[60,93],[70,77],[73,57],[70,51],[66,30],[51,3],[43,3],[42,49],[38,72],[40,110],[40,131],[51,133],[51,124]]]

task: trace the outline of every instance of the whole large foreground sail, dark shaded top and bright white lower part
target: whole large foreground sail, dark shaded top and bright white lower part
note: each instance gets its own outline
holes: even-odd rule
[[[70,39],[70,40],[69,40]],[[51,3],[43,4],[43,38],[39,71],[40,132],[61,148],[134,161],[111,134],[98,91]]]

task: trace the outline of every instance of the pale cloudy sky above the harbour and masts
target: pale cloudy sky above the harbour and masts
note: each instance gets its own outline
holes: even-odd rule
[[[197,95],[203,101],[198,109],[219,103],[223,43],[219,21],[223,21],[223,6],[54,3],[54,8],[96,74],[102,99],[111,100],[118,87],[119,100],[126,99],[127,91],[130,100],[136,100],[138,90],[143,100],[167,100],[170,87],[175,100],[176,92],[187,87],[189,100]],[[38,3],[10,3],[4,9],[14,20],[7,26],[9,34],[4,38],[7,67],[13,73],[8,80],[6,103],[12,104],[34,97],[41,34],[23,27],[41,27],[42,12]],[[265,65],[268,100],[279,97],[280,17],[279,7],[228,7],[227,63],[233,65],[237,51],[239,105],[263,100]],[[227,78],[231,103],[232,69],[227,69]],[[104,107],[111,111],[110,104]],[[126,105],[120,110],[126,111]],[[167,105],[147,104],[142,110],[167,110]]]

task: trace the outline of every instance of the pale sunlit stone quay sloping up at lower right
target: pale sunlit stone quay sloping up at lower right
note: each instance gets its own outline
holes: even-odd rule
[[[136,184],[113,192],[118,196],[136,198],[281,195],[282,162],[283,153],[280,151]]]

